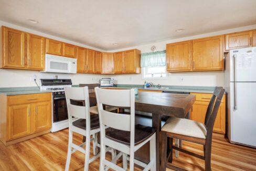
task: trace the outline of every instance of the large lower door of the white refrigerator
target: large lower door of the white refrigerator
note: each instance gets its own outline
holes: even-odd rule
[[[230,139],[232,142],[256,146],[256,82],[230,83]],[[234,94],[237,110],[234,110]]]

